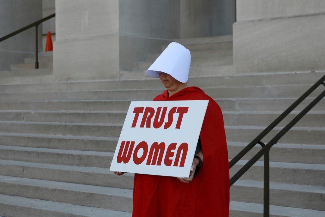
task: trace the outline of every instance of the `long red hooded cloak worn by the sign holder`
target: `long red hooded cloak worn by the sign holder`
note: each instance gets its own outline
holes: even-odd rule
[[[223,115],[219,105],[198,87],[154,101],[209,100],[200,138],[203,166],[196,178],[182,183],[176,177],[135,174],[133,217],[228,217],[229,162]]]

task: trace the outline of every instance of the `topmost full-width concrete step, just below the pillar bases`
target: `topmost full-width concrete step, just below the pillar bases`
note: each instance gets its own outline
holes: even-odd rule
[[[234,75],[234,76],[211,76],[211,77],[190,77],[189,86],[206,87],[245,87],[245,86],[276,86],[276,85],[310,85],[312,86],[324,72],[305,73],[273,73],[256,75]],[[149,78],[149,76],[148,76]],[[64,91],[64,90],[112,90],[112,89],[143,89],[163,88],[159,79],[145,80],[98,80],[79,82],[57,82],[31,84],[4,84],[0,85],[1,93],[13,92],[37,92],[37,91]]]

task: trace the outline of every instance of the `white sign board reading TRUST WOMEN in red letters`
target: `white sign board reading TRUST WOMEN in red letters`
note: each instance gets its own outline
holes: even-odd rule
[[[208,102],[131,102],[110,170],[189,177]]]

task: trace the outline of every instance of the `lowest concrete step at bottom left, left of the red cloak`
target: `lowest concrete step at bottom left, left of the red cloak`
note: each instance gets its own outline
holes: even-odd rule
[[[131,217],[132,213],[53,201],[0,195],[0,215],[32,217]]]

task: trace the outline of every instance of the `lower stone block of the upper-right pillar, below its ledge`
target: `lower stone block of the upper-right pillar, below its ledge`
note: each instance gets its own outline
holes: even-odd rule
[[[324,70],[325,14],[233,25],[234,73]]]

